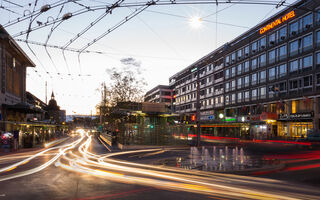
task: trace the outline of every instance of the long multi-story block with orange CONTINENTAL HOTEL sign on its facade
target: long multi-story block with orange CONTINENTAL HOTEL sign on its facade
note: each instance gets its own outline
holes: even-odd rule
[[[298,1],[169,79],[202,133],[302,137],[319,129],[320,2]],[[197,88],[199,83],[199,88]]]

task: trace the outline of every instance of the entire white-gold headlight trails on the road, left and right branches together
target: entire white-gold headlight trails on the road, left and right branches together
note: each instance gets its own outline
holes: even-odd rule
[[[271,179],[204,171],[188,171],[170,167],[164,168],[112,158],[113,156],[137,153],[157,154],[157,152],[164,151],[161,148],[94,154],[89,151],[91,144],[92,136],[83,133],[74,142],[50,147],[15,164],[1,168],[0,172],[8,172],[8,170],[15,169],[45,153],[57,151],[56,155],[42,165],[16,173],[14,173],[15,170],[12,170],[12,174],[0,176],[0,181],[30,175],[55,163],[55,166],[61,169],[106,178],[111,181],[139,184],[166,190],[194,192],[213,197],[232,199],[316,199],[320,194],[308,188],[296,187]]]

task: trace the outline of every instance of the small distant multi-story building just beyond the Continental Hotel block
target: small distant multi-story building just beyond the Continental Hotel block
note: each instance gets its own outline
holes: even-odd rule
[[[145,102],[171,104],[172,89],[168,85],[158,85],[149,90],[144,97]]]

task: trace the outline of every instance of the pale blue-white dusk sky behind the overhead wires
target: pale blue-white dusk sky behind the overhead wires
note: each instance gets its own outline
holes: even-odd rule
[[[14,23],[8,27],[6,24],[10,20],[21,17],[23,13],[29,13],[25,10],[32,11],[35,1],[11,1],[14,4],[2,0],[0,2],[1,6],[10,10],[0,9],[0,24],[12,36],[27,30],[30,20]],[[63,1],[39,0],[36,10],[45,4],[54,2]],[[53,18],[61,17],[65,13],[74,14],[77,10],[84,9],[84,5],[106,5],[102,0],[77,2],[78,4],[70,2],[64,7],[50,9],[34,18],[31,27],[46,21],[50,22]],[[113,1],[107,2],[113,3]],[[124,2],[134,3],[136,1]],[[284,8],[277,9],[275,5],[236,3],[241,0],[231,2],[234,4],[151,6],[86,49],[100,51],[103,54],[82,53],[80,54],[80,62],[78,61],[78,53],[65,51],[66,64],[61,49],[48,47],[47,50],[52,62],[44,46],[29,44],[31,51],[25,42],[17,41],[36,64],[35,68],[28,68],[27,91],[45,101],[45,82],[47,81],[48,98],[54,91],[58,104],[61,109],[67,111],[67,114],[90,114],[91,112],[94,114],[95,105],[101,98],[97,88],[101,82],[106,81],[108,84],[109,81],[106,69],[121,66],[120,60],[122,58],[132,57],[141,63],[143,77],[148,83],[145,88],[147,91],[158,84],[168,84],[168,79],[173,74]],[[279,1],[264,2],[275,3]],[[293,2],[293,0],[287,0],[286,4]],[[104,17],[69,47],[81,49],[88,42],[123,20],[134,9],[135,7],[114,9],[112,14]],[[216,11],[218,11],[217,16]],[[54,28],[48,44],[64,46],[104,12],[105,9],[88,11],[65,20]],[[199,26],[191,23],[191,19],[198,18],[202,19]],[[53,26],[50,25],[31,31],[28,40],[44,44],[52,28]],[[25,40],[27,35],[23,34],[14,38]]]

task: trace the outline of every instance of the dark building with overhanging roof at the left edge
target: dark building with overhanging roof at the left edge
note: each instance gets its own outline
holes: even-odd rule
[[[34,112],[26,103],[26,68],[35,64],[0,25],[0,131],[14,131]]]

